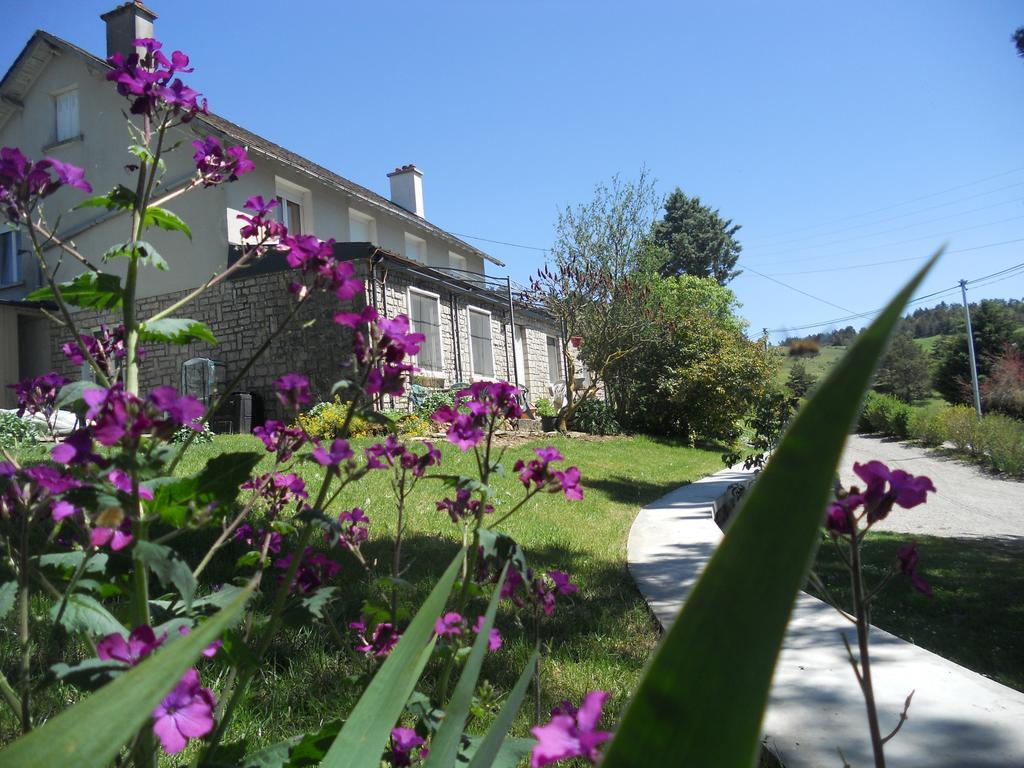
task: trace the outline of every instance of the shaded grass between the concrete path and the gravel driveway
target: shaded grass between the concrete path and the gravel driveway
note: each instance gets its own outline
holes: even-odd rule
[[[896,578],[880,594],[871,623],[1004,685],[1024,691],[1024,568],[1020,542],[872,532],[864,544],[865,573],[878,583],[896,552],[918,542],[928,598]],[[827,542],[816,568],[842,605],[850,605],[846,565]]]

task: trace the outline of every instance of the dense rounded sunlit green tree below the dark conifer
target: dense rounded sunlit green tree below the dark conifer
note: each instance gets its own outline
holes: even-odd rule
[[[621,423],[686,440],[733,441],[739,419],[770,385],[774,355],[746,338],[735,297],[711,278],[655,280],[647,304],[657,336],[609,372]]]

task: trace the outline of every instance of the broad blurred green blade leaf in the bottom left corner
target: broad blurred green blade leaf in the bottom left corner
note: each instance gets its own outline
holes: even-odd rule
[[[4,768],[74,765],[103,768],[151,715],[203,650],[233,625],[252,585],[233,603],[198,629],[146,656],[138,667],[0,752]]]

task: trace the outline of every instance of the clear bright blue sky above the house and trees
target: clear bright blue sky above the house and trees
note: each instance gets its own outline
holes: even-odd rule
[[[17,2],[0,62],[37,28],[102,53],[114,4]],[[415,162],[454,232],[546,248],[560,206],[646,166],[742,224],[752,331],[871,310],[943,242],[921,294],[1024,262],[1019,2],[152,7],[211,110],[385,195]],[[470,242],[520,281],[544,260]]]

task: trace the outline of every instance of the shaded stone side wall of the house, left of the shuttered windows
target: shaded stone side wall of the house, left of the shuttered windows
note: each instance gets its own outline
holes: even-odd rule
[[[253,353],[272,335],[291,311],[295,297],[288,292],[291,275],[287,272],[263,274],[228,281],[215,286],[190,304],[175,312],[206,324],[217,344],[194,342],[185,345],[144,344],[145,358],[139,368],[139,387],[144,392],[170,384],[180,386],[181,364],[193,357],[209,357],[224,364],[227,381],[246,366]],[[151,316],[182,298],[187,292],[164,294],[140,299],[139,317]],[[361,305],[361,299],[358,300]],[[335,381],[342,378],[352,348],[351,331],[332,322],[335,312],[352,308],[340,304],[330,294],[314,295],[304,305],[289,330],[283,332],[246,373],[238,386],[240,392],[253,392],[263,402],[267,418],[279,418],[280,406],[272,382],[283,374],[302,373],[309,378],[317,399],[328,399]],[[114,312],[81,311],[76,314],[80,328],[93,330],[100,324],[116,325]],[[310,324],[311,325],[308,325]],[[51,335],[50,356],[53,366],[70,379],[81,372],[61,353],[71,340],[63,329]]]

